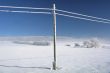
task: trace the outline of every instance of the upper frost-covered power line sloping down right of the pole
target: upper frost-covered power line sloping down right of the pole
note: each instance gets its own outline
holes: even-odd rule
[[[95,19],[98,19],[98,20],[110,21],[110,19],[99,18],[99,17],[95,17],[95,16],[89,16],[89,15],[85,15],[85,14],[69,12],[69,11],[65,11],[65,10],[56,9],[56,11],[65,12],[65,13],[74,14],[74,15],[80,15],[80,16],[89,17],[89,18],[95,18]]]

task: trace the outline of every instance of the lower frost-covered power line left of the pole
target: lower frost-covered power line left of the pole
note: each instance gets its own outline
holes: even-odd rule
[[[31,14],[51,14],[51,12],[12,11],[12,10],[0,10],[0,12],[31,13]]]

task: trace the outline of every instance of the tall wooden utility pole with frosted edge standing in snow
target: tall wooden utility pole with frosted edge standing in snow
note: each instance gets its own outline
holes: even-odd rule
[[[55,4],[53,4],[53,45],[54,45],[54,61],[53,61],[53,70],[56,70],[56,7]]]

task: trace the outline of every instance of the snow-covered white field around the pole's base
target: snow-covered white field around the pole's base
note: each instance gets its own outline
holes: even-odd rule
[[[0,41],[0,73],[110,73],[109,44],[75,48],[74,42],[77,40],[57,40],[58,70],[54,71],[52,43],[38,46]]]

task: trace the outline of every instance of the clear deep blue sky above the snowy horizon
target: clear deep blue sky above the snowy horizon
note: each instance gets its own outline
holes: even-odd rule
[[[0,6],[52,8],[54,3],[57,9],[110,19],[110,0],[0,0]],[[58,36],[110,37],[109,32],[110,24],[57,15]],[[52,35],[53,15],[0,12],[0,36]]]

